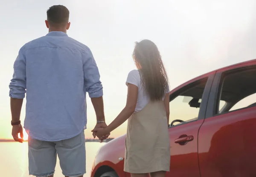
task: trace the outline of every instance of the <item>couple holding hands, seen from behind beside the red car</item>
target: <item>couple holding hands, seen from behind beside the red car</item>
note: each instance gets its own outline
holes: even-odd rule
[[[69,10],[62,5],[47,10],[46,36],[21,47],[9,85],[12,136],[23,142],[20,111],[26,94],[24,128],[29,135],[29,174],[53,177],[56,158],[65,177],[86,173],[86,93],[96,112],[93,136],[106,139],[128,120],[124,171],[131,177],[164,177],[170,166],[169,86],[157,46],[136,43],[129,72],[125,108],[105,124],[99,70],[90,49],[67,36]],[[20,137],[18,137],[20,134]]]

